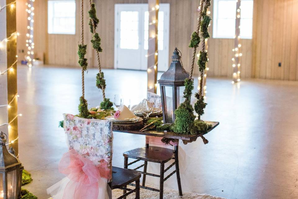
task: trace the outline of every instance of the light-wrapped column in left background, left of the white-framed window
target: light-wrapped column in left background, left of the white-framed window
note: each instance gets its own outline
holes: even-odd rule
[[[33,7],[33,2],[35,0],[29,0],[29,2],[26,2],[26,12],[27,14],[27,20],[28,20],[28,25],[27,25],[27,34],[26,34],[26,47],[28,49],[27,55],[26,55],[26,60],[27,60],[27,66],[32,67],[32,62],[35,62],[34,59],[34,40],[33,40],[33,23],[34,23],[34,7]]]

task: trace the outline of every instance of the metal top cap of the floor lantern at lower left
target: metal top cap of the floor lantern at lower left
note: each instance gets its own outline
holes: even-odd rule
[[[6,134],[1,131],[1,133],[0,133],[0,144],[1,144],[1,146],[0,146],[0,172],[21,164],[20,161],[14,155],[11,155],[8,152],[6,145],[5,145],[7,136],[6,137],[5,136],[6,136]]]

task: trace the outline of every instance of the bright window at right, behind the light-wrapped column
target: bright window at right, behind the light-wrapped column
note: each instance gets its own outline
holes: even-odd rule
[[[235,0],[214,0],[213,38],[234,38],[236,20]],[[253,0],[241,1],[240,35],[252,38]]]

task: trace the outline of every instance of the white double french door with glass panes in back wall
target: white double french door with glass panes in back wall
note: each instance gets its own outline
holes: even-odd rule
[[[160,4],[158,14],[158,70],[169,67],[169,4]],[[114,66],[147,70],[148,4],[115,4]]]

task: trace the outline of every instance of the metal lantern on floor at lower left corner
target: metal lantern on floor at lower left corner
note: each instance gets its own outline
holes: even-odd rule
[[[22,180],[20,161],[6,148],[7,135],[0,133],[0,199],[17,199]]]

